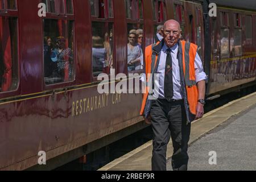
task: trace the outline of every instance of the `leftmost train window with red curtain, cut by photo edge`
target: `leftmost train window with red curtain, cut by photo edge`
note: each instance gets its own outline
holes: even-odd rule
[[[3,2],[3,1],[2,1]],[[7,3],[6,3],[7,2]],[[16,1],[5,1],[1,8],[7,10],[0,16],[0,92],[18,88],[18,11]]]

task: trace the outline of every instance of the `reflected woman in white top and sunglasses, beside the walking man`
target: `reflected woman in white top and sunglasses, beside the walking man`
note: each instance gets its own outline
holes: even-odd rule
[[[136,40],[136,33],[134,31],[130,31],[128,37],[129,43],[127,45],[128,71],[142,69],[141,62],[143,61],[143,52]]]

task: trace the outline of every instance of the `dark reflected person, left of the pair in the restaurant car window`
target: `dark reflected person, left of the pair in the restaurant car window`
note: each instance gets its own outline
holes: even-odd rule
[[[52,39],[49,36],[44,38],[44,77],[52,77],[57,65],[51,60]]]

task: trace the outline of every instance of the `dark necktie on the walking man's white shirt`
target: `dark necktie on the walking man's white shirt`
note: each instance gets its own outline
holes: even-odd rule
[[[171,49],[167,49],[166,73],[164,75],[164,97],[171,101],[174,97],[174,82],[172,81],[172,56]]]

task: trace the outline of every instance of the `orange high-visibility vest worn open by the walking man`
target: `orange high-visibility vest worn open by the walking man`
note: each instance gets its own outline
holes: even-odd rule
[[[146,51],[145,51],[146,76],[148,75],[148,73],[154,73],[155,68],[152,68],[152,67],[156,67],[156,63],[159,55],[153,54],[153,48],[154,46],[158,46],[159,43],[146,47]],[[196,44],[188,43],[185,41],[181,41],[180,44],[182,46],[185,90],[187,91],[187,97],[185,97],[187,98],[187,101],[185,101],[185,103],[188,103],[188,108],[190,113],[193,115],[196,115],[196,106],[198,103],[198,90],[196,86],[196,74],[195,74],[195,58],[197,53],[197,46]],[[151,81],[150,80],[151,78],[152,77],[147,77],[147,82]],[[144,92],[143,94],[141,115],[143,115],[144,109],[145,107],[147,107],[148,90],[150,90],[150,88],[147,86],[146,92]]]

